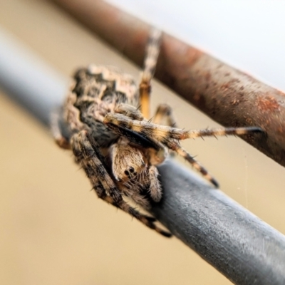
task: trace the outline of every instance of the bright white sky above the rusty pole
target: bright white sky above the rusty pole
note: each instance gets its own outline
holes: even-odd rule
[[[285,91],[285,1],[108,2]]]

